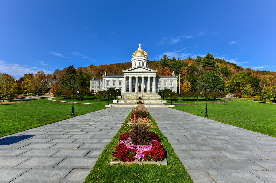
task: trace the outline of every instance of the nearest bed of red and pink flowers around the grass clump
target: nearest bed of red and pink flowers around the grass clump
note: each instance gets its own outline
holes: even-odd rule
[[[159,138],[151,132],[151,140],[148,145],[132,144],[129,133],[122,133],[119,143],[114,151],[113,160],[122,162],[132,161],[161,161],[164,157],[164,149],[158,142]]]

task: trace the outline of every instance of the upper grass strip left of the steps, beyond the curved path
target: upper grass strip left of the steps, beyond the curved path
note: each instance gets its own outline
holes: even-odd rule
[[[115,99],[115,97],[109,98],[109,104],[113,104],[112,103],[113,99]],[[116,99],[117,99],[117,97],[116,97]],[[53,100],[72,102],[71,98],[63,99],[63,97],[53,98]],[[81,98],[74,99],[74,102],[89,103],[89,104],[105,104],[105,105],[107,105],[107,97],[105,99],[103,97],[102,98],[93,98],[93,99],[89,98],[89,97],[83,97],[83,99],[81,99]]]

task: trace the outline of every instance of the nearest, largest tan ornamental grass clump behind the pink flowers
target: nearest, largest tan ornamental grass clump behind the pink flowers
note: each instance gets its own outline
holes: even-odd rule
[[[130,120],[126,124],[129,137],[131,137],[132,144],[148,145],[151,140],[151,132],[156,128],[151,120],[148,118],[139,117],[136,120]]]

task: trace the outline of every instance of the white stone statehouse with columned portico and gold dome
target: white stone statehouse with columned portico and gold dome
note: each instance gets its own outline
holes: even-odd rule
[[[171,76],[156,76],[157,70],[148,68],[148,55],[141,47],[133,53],[131,64],[132,68],[123,70],[124,75],[122,76],[107,75],[105,71],[105,75],[102,76],[102,84],[100,84],[100,80],[91,79],[90,90],[98,92],[113,87],[115,90],[121,90],[122,93],[140,92],[140,90],[157,93],[165,88],[171,89],[173,92],[177,91],[177,76],[174,75],[174,72]],[[92,84],[95,82],[98,84],[96,88],[95,84]]]

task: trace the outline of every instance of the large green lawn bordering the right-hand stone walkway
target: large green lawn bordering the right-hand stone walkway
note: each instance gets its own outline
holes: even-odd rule
[[[205,116],[205,105],[176,105],[174,109]],[[276,137],[276,104],[233,100],[207,104],[206,118]]]

